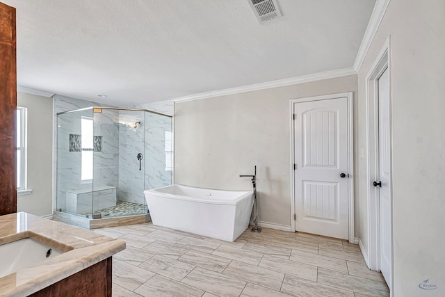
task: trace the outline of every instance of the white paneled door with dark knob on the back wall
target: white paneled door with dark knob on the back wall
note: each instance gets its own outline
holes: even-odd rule
[[[293,110],[296,230],[348,239],[348,98]]]

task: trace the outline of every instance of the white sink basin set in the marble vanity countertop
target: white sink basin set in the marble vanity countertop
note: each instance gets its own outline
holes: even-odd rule
[[[0,278],[62,253],[62,250],[29,237],[2,244],[0,246]]]

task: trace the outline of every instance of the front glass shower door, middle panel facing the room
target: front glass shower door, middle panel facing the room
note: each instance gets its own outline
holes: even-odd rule
[[[96,111],[93,162],[96,217],[146,214],[143,111]]]

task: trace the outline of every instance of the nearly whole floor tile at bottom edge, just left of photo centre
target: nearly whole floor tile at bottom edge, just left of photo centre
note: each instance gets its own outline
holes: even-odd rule
[[[182,282],[218,296],[229,297],[238,297],[246,284],[246,282],[236,280],[236,278],[199,267],[188,273]]]

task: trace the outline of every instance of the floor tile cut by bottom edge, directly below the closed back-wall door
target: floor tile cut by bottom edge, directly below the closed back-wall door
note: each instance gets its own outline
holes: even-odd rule
[[[318,284],[303,278],[297,278],[294,275],[286,274],[281,291],[293,296],[345,296],[354,297],[352,291],[337,289],[325,284]]]

